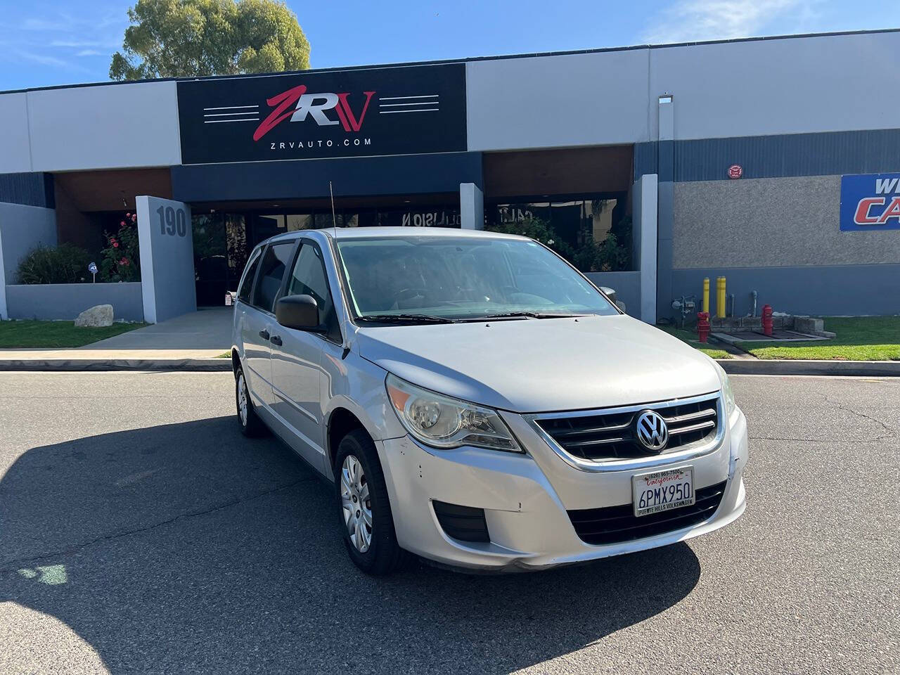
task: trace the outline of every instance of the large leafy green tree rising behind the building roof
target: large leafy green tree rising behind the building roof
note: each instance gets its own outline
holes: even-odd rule
[[[310,67],[297,16],[277,0],[138,0],[115,80],[271,73]]]

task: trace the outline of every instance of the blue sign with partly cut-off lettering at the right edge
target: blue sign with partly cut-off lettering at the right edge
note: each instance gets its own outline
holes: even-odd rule
[[[900,229],[900,174],[842,175],[841,229]]]

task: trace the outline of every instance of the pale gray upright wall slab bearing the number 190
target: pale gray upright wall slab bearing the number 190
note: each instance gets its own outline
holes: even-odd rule
[[[191,207],[148,196],[135,202],[144,320],[157,323],[197,311]]]

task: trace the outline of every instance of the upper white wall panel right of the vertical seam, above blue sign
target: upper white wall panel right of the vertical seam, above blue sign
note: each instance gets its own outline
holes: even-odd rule
[[[675,139],[896,129],[898,63],[900,32],[669,47],[650,94],[674,95]]]

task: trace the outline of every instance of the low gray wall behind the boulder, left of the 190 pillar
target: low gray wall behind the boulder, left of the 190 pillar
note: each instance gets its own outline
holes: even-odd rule
[[[140,282],[6,286],[10,319],[73,320],[94,305],[111,304],[115,320],[144,320]]]

